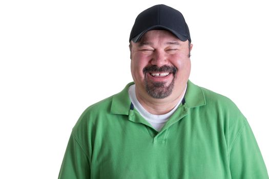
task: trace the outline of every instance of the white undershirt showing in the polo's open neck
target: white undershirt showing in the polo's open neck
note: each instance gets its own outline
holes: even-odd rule
[[[179,102],[177,103],[177,105],[167,114],[164,115],[153,115],[151,113],[149,113],[137,100],[136,98],[136,94],[135,94],[135,84],[131,85],[129,87],[129,98],[131,99],[131,102],[133,103],[135,109],[138,111],[138,113],[144,118],[146,119],[151,125],[152,127],[154,127],[157,131],[159,131],[165,124],[165,122],[168,121],[168,119],[170,118],[170,116],[172,116],[172,114],[174,113],[174,111],[177,109],[177,107],[179,106],[179,104],[181,103],[182,99],[184,98],[185,92],[187,89],[187,85],[185,87],[185,90],[183,92],[183,95],[181,97],[181,99],[179,100]]]

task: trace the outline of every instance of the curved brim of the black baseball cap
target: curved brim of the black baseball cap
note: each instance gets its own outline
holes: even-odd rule
[[[150,31],[150,30],[168,30],[170,31],[172,34],[174,34],[177,38],[179,38],[179,40],[181,41],[186,41],[188,40],[188,37],[182,35],[182,34],[179,34],[177,33],[176,31],[170,29],[170,28],[167,28],[167,27],[164,27],[164,26],[160,26],[160,25],[157,25],[157,26],[152,26],[146,30],[144,30],[143,32],[141,32],[140,34],[136,35],[134,38],[132,38],[132,41],[133,42],[138,42],[140,40],[140,38],[144,35],[144,33]]]

